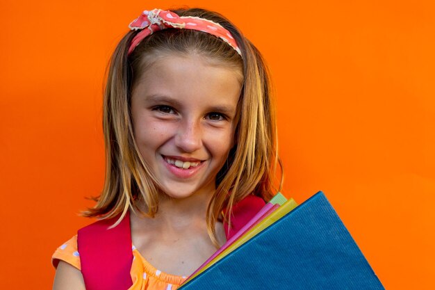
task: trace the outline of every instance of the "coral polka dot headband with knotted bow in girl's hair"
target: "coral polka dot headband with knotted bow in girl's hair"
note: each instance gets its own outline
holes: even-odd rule
[[[242,55],[236,40],[234,40],[227,29],[224,29],[220,24],[200,17],[179,16],[171,11],[161,9],[145,10],[138,18],[131,22],[129,28],[131,30],[142,30],[131,41],[129,54],[144,38],[156,31],[163,29],[192,29],[215,35],[231,45],[240,56]]]

